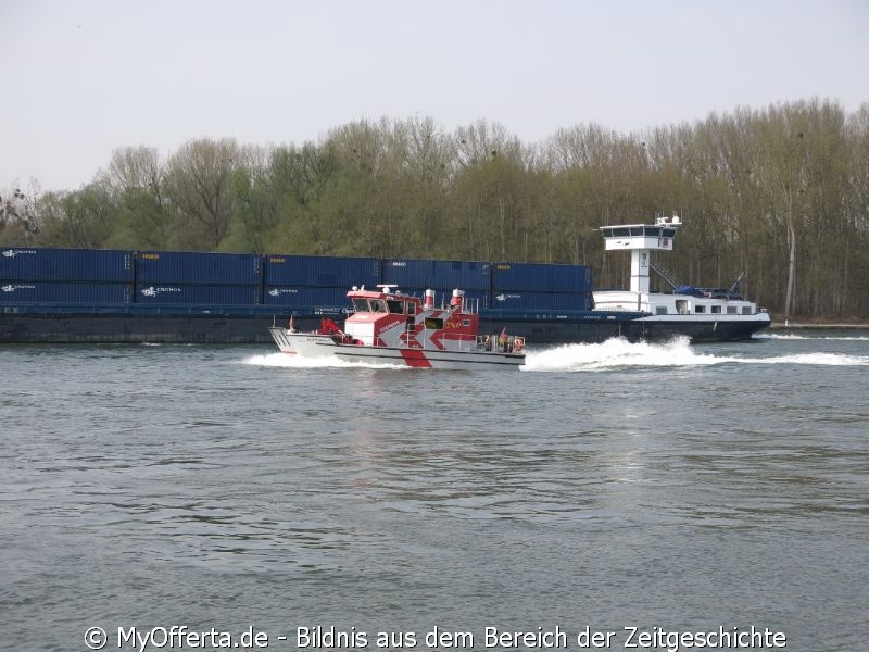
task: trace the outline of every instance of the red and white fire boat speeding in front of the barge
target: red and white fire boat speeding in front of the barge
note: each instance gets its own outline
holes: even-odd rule
[[[335,356],[348,362],[399,364],[437,369],[516,369],[525,364],[525,338],[479,335],[479,315],[465,292],[453,290],[449,304],[436,308],[434,292],[425,299],[402,294],[393,286],[356,289],[347,296],[354,313],[341,330],[331,319],[299,333],[269,328],[281,352],[306,358]]]

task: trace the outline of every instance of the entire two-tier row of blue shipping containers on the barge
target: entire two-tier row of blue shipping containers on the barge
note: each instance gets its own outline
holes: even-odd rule
[[[0,303],[276,306],[344,312],[353,286],[465,290],[479,309],[591,309],[584,265],[84,249],[0,250]]]

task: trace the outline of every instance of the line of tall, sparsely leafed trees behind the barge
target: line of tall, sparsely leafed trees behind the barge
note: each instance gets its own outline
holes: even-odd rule
[[[524,143],[486,121],[358,121],[317,142],[115,150],[77,190],[15,189],[0,244],[588,264],[627,287],[597,227],[678,214],[657,263],[776,318],[869,316],[869,103],[739,108],[638,134]],[[667,288],[663,288],[667,289]]]

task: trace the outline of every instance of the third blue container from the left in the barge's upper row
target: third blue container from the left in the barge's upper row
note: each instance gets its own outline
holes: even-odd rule
[[[324,255],[266,255],[265,284],[347,288],[380,283],[380,262],[374,258]]]

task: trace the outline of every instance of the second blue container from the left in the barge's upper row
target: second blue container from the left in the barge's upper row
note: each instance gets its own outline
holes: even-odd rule
[[[260,285],[263,258],[250,253],[139,251],[137,283]]]

